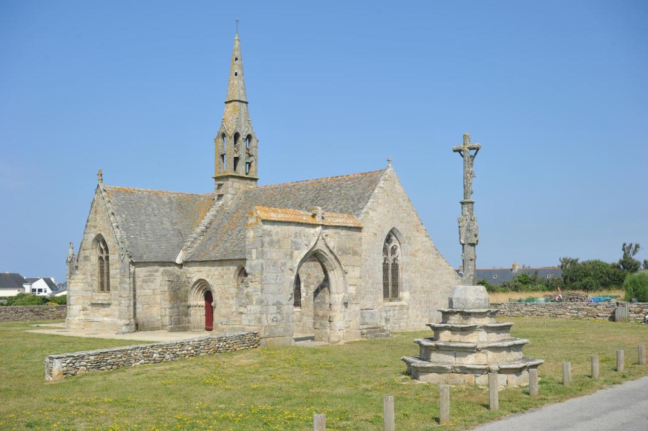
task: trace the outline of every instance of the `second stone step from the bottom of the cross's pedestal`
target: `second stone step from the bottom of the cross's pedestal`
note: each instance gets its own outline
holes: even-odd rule
[[[443,364],[487,365],[522,359],[522,348],[529,340],[506,338],[483,342],[447,342],[417,338],[419,359]]]

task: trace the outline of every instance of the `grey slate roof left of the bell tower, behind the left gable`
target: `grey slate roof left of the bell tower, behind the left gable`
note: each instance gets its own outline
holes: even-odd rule
[[[135,261],[175,261],[214,203],[214,193],[103,187]]]

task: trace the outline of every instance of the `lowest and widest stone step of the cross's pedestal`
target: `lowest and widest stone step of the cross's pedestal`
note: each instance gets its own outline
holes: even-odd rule
[[[498,373],[500,385],[521,386],[527,384],[527,370],[544,364],[542,359],[522,357],[519,360],[499,362],[491,365],[484,364],[445,364],[443,362],[428,362],[415,357],[400,358],[407,364],[408,374],[423,382],[448,384],[488,384],[488,373]]]

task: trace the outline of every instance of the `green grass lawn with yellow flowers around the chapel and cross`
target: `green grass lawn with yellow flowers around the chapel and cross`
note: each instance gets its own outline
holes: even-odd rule
[[[500,320],[504,320],[500,318]],[[540,397],[527,388],[500,392],[498,412],[488,392],[452,387],[452,426],[436,425],[438,389],[404,375],[402,355],[417,355],[416,337],[321,348],[262,348],[199,359],[122,368],[43,381],[51,353],[133,342],[22,332],[35,322],[0,324],[0,428],[214,430],[312,429],[312,415],[327,414],[329,429],[381,430],[382,397],[394,395],[400,430],[470,428],[542,404],[594,392],[648,374],[637,365],[637,345],[648,327],[588,320],[508,318],[513,335],[529,338],[528,356],[540,366]],[[625,349],[625,371],[616,373],[616,349]],[[590,356],[601,360],[601,379],[588,377]],[[562,386],[561,362],[572,362],[573,386]]]

